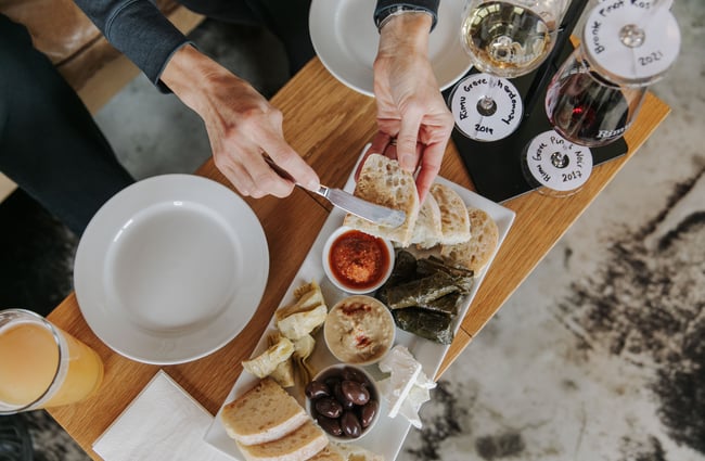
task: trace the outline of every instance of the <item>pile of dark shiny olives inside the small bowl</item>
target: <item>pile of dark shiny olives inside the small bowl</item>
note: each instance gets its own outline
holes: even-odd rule
[[[380,409],[374,386],[368,376],[352,367],[332,370],[306,386],[311,417],[326,433],[358,438],[372,424]]]

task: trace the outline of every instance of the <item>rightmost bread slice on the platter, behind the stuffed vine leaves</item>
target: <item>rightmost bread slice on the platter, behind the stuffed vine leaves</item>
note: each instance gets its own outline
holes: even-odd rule
[[[478,208],[467,208],[473,235],[467,242],[443,245],[440,257],[447,262],[458,265],[477,273],[495,254],[499,243],[499,230],[495,220]]]

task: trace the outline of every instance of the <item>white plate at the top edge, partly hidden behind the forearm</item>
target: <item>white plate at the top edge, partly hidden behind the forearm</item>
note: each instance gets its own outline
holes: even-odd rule
[[[372,63],[380,34],[374,25],[375,0],[313,0],[309,29],[313,49],[325,68],[349,88],[373,95]],[[428,57],[441,90],[470,69],[460,42],[464,0],[443,0],[428,39]]]

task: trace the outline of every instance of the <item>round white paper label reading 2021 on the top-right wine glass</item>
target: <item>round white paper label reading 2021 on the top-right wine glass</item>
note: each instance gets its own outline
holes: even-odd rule
[[[664,1],[605,0],[585,23],[590,61],[620,80],[649,85],[666,73],[680,50],[680,29]],[[605,76],[610,77],[610,76]]]

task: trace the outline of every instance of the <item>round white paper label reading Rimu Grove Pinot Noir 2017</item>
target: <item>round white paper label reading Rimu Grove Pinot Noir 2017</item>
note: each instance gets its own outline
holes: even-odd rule
[[[579,189],[592,172],[590,149],[575,144],[550,130],[534,138],[526,150],[526,169],[533,185],[552,191]]]

